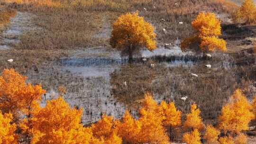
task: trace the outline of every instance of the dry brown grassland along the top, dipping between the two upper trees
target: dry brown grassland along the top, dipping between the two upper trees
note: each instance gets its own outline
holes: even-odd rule
[[[236,9],[235,4],[226,0],[4,0],[4,3],[7,8],[37,13],[35,22],[43,27],[42,31],[22,37],[22,45],[19,45],[22,49],[108,45],[108,39],[93,36],[101,30],[99,27],[104,23],[101,20],[136,10],[153,24],[159,43],[170,43],[193,33],[191,21],[198,12],[231,14]],[[178,23],[180,21],[183,25]],[[167,30],[166,35],[163,28]]]

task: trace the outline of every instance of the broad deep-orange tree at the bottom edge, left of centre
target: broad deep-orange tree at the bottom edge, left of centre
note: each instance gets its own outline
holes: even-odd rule
[[[33,115],[30,125],[25,118],[20,127],[30,134],[30,144],[89,144],[92,131],[83,127],[81,117],[82,109],[70,108],[59,97],[46,101],[46,107]]]

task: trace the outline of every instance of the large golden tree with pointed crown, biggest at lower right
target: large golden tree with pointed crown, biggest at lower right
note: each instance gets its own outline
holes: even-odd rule
[[[225,133],[240,133],[247,130],[249,122],[254,118],[252,107],[241,90],[236,90],[219,116],[219,128]]]

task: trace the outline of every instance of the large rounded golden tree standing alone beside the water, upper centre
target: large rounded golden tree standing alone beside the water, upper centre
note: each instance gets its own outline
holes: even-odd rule
[[[128,54],[129,62],[133,55],[146,47],[152,51],[156,48],[154,27],[147,23],[138,12],[121,15],[113,24],[110,45]]]

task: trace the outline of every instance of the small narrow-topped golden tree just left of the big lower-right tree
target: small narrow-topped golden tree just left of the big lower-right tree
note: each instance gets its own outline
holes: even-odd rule
[[[197,108],[196,104],[191,105],[190,114],[186,114],[186,121],[183,127],[187,129],[202,129],[204,128],[202,118],[200,116],[200,109]]]

